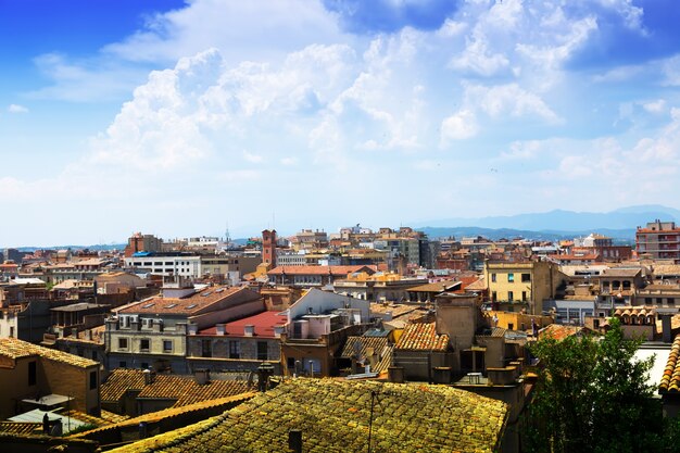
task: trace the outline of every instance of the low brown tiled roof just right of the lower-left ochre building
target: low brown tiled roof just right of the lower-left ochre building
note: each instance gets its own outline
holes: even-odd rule
[[[115,369],[101,385],[102,402],[118,401],[128,390],[139,391],[137,398],[177,400],[173,407],[201,401],[232,397],[248,391],[248,385],[240,380],[211,380],[200,385],[193,376],[155,376],[152,383],[144,383],[143,372],[137,369]]]

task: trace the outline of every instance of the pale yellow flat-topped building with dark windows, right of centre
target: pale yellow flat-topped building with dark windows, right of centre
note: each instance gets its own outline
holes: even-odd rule
[[[555,298],[562,282],[557,266],[549,261],[484,262],[484,280],[494,309],[540,315],[543,301]]]

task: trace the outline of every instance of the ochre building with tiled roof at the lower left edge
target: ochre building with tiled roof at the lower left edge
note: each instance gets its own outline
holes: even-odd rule
[[[99,363],[15,338],[0,339],[0,419],[42,407],[99,415]]]

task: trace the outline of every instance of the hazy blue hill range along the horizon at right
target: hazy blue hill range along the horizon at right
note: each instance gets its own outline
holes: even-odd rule
[[[529,237],[528,235],[530,235],[530,237],[537,237],[537,234],[554,234],[557,236],[574,237],[596,231],[613,237],[634,238],[634,231],[638,226],[644,226],[647,222],[653,222],[656,218],[680,223],[680,211],[672,207],[650,204],[621,207],[607,213],[554,210],[544,213],[508,216],[477,218],[454,217],[412,223],[412,225],[420,230],[442,227],[487,228],[491,230],[505,230],[505,232],[511,236],[513,235],[511,231],[518,230],[522,232],[517,236],[522,237]]]

